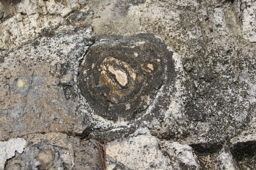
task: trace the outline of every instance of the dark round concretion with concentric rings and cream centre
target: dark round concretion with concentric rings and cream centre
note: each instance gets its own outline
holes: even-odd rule
[[[81,61],[77,86],[94,113],[126,120],[143,115],[166,81],[172,52],[151,34],[100,36]]]

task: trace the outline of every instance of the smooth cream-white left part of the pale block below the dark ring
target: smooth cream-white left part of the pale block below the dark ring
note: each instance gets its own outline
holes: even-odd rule
[[[108,143],[106,147],[108,156],[132,170],[171,168],[168,156],[164,156],[159,148],[159,140],[153,136],[119,139]]]

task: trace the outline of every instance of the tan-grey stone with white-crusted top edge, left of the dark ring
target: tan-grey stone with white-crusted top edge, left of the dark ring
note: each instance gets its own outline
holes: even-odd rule
[[[75,42],[83,50],[92,43],[90,31],[87,26],[69,31],[67,28],[62,33],[57,28],[45,30],[33,40],[34,45],[27,43],[5,57],[0,69],[1,140],[32,133],[82,133],[86,126],[83,119],[71,111],[77,104],[66,100],[58,84],[61,65]],[[26,51],[32,53],[24,55]],[[77,70],[70,74],[73,72]]]

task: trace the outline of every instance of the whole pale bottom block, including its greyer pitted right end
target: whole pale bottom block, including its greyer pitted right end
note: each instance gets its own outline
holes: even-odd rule
[[[159,141],[154,136],[139,135],[112,141],[107,145],[108,159],[122,162],[129,169],[197,170],[192,147],[178,142]],[[115,167],[115,164],[108,164]]]

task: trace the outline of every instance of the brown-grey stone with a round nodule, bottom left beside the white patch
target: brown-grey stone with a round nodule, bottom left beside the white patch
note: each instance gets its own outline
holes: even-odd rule
[[[81,170],[102,166],[96,142],[81,141],[62,133],[31,134],[25,150],[8,161],[6,170]]]

